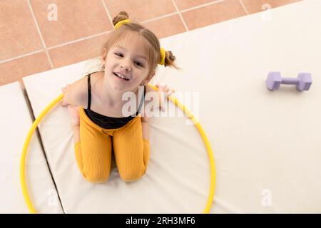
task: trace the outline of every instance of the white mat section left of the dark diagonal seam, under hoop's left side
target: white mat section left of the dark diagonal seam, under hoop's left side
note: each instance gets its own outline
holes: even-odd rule
[[[20,159],[32,120],[18,82],[0,87],[0,213],[29,213],[20,185]],[[26,182],[39,213],[61,213],[61,204],[35,134],[26,156]]]

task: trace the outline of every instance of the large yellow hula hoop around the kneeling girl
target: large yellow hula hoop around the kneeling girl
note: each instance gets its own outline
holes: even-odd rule
[[[148,84],[153,90],[158,90],[156,86],[153,86],[151,84]],[[51,108],[54,107],[60,100],[62,100],[63,94],[59,95],[58,98],[54,99],[39,115],[36,120],[34,120],[34,124],[31,126],[29,133],[27,135],[27,138],[24,142],[24,147],[22,148],[22,153],[21,153],[21,160],[20,160],[20,183],[21,183],[21,190],[22,194],[24,195],[24,200],[26,201],[26,205],[29,209],[29,212],[32,214],[36,213],[36,209],[32,205],[31,199],[29,197],[28,193],[28,188],[26,185],[26,152],[29,146],[29,142],[31,140],[31,136],[34,134],[34,130],[36,130],[38,124],[44,118],[44,116],[51,110]],[[177,98],[174,98],[173,96],[169,96],[168,99],[172,101],[178,108],[183,110],[183,112],[188,115],[188,118],[193,121],[195,124],[195,127],[198,129],[198,132],[200,133],[200,136],[203,139],[203,142],[205,143],[206,150],[208,151],[208,157],[210,160],[210,193],[208,195],[208,202],[205,205],[205,209],[203,210],[203,213],[209,213],[210,212],[210,207],[213,203],[213,197],[214,197],[214,190],[215,190],[215,165],[214,165],[214,159],[213,159],[213,151],[212,148],[210,147],[210,142],[208,141],[208,138],[205,135],[205,132],[198,122],[198,120],[195,119],[194,115],[190,113],[190,111],[183,105],[181,104]]]

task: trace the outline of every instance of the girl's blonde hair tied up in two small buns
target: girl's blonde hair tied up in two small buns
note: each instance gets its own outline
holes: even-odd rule
[[[126,11],[121,11],[114,19],[113,19],[113,25],[115,26],[119,21],[123,21],[128,19],[128,14]],[[130,22],[123,24],[120,28],[115,29],[109,34],[108,41],[103,44],[101,48],[101,52],[103,53],[103,50],[106,48],[106,53],[110,50],[110,48],[121,38],[126,36],[126,33],[128,32],[136,32],[141,34],[143,38],[145,38],[147,42],[146,50],[148,53],[148,63],[150,64],[150,71],[148,73],[148,76],[151,75],[153,71],[156,70],[158,63],[161,61],[161,46],[158,41],[157,36],[147,28],[144,28],[141,26],[141,24],[138,24],[136,22]],[[173,56],[173,53],[171,51],[166,51],[165,53],[165,67],[170,66],[174,67],[177,70],[180,69],[174,64],[175,56]]]

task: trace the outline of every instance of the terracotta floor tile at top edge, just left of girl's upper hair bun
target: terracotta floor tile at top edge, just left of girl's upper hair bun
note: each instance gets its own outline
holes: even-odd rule
[[[113,28],[101,0],[30,1],[47,47]]]

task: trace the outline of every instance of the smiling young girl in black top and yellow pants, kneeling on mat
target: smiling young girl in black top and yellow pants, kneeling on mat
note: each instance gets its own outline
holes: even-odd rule
[[[138,180],[145,174],[150,154],[148,112],[141,107],[148,106],[144,97],[153,91],[147,84],[158,63],[177,68],[175,56],[161,49],[155,34],[131,23],[125,11],[113,24],[116,29],[103,46],[103,71],[63,88],[61,105],[68,106],[71,116],[76,161],[89,182],[108,179],[112,150],[124,181]],[[138,93],[139,86],[144,86],[143,95]],[[156,86],[160,99],[174,92],[167,86]],[[125,116],[127,100],[122,96],[126,92],[132,92],[138,108]]]

